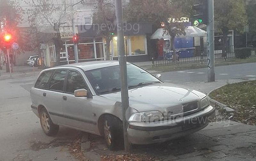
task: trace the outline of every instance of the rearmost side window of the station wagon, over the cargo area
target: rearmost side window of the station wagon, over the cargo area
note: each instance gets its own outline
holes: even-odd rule
[[[52,75],[52,70],[43,72],[37,79],[35,83],[35,88],[47,89],[48,81]]]

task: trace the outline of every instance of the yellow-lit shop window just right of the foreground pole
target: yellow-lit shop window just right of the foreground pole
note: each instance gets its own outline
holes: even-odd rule
[[[145,38],[144,35],[131,36],[131,54],[145,54]]]

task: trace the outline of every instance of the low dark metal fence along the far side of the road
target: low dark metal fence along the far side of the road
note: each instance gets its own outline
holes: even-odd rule
[[[176,64],[179,65],[179,64],[192,64],[192,63],[203,64],[208,62],[206,52],[202,52],[201,55],[195,54],[200,56],[184,57],[184,55],[182,55],[183,57],[181,57],[181,53],[187,50],[189,49],[176,50],[175,52],[176,55],[173,54],[173,51],[165,51],[162,57],[152,58],[152,66],[158,67],[158,66],[166,66],[166,65],[176,65]],[[227,53],[222,53],[222,50],[215,50],[214,56],[215,56],[215,61],[226,61],[226,60],[236,58],[236,55],[233,49]],[[255,50],[252,51],[251,56],[256,56]]]

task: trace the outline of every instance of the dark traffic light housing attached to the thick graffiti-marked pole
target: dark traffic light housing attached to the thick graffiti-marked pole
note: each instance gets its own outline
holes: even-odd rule
[[[197,0],[197,3],[193,5],[193,9],[196,11],[193,16],[193,26],[208,25],[208,0]]]

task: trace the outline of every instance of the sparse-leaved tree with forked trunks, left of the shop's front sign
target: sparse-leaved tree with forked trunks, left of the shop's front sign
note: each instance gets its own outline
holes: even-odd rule
[[[70,15],[66,0],[31,0],[26,3],[30,6],[27,9],[28,21],[35,35],[39,57],[41,57],[39,43],[42,41],[42,33],[47,33],[55,45],[56,65],[60,65],[60,48],[63,45],[60,37],[60,25],[65,23]]]

